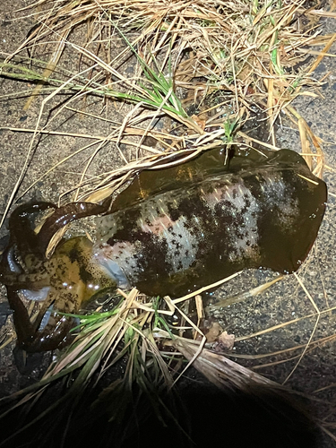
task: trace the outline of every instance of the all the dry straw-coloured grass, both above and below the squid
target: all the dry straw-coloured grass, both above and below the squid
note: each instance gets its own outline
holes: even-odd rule
[[[7,128],[13,132],[30,133],[32,138],[3,221],[41,135],[89,139],[89,143],[81,149],[54,163],[24,192],[27,193],[69,159],[90,150],[81,175],[75,185],[60,196],[59,203],[73,200],[101,202],[116,194],[142,169],[154,171],[172,167],[193,159],[201,151],[225,143],[237,142],[252,147],[250,145],[253,142],[278,150],[274,123],[282,111],[286,112],[299,130],[307,164],[316,176],[322,177],[324,159],[321,141],[291,103],[298,95],[316,96],[315,89],[321,85],[321,81],[317,82],[312,72],[323,57],[329,54],[335,36],[318,35],[320,31],[313,18],[322,13],[306,11],[304,4],[304,0],[195,0],[193,3],[187,0],[170,3],[159,0],[155,2],[154,8],[149,2],[139,0],[130,0],[127,4],[116,0],[39,0],[30,5],[31,15],[39,18],[39,25],[31,30],[26,41],[13,55],[4,55],[6,57],[0,66],[6,76],[37,83],[26,108],[30,107],[32,99],[38,99],[39,94],[45,97],[41,100],[39,116],[32,128]],[[329,13],[329,16],[331,14],[335,15]],[[323,15],[328,16],[328,13]],[[303,28],[299,16],[307,18]],[[73,39],[73,31],[82,24],[89,25],[87,41],[78,45]],[[118,54],[111,50],[112,39],[122,42]],[[310,47],[317,45],[324,46],[322,52],[310,50]],[[25,49],[31,51],[29,60],[21,56]],[[44,50],[46,55],[43,55]],[[306,55],[315,53],[318,58],[313,65],[306,70],[297,69],[305,62]],[[66,71],[62,68],[64,54],[74,55],[80,61],[79,66],[85,68],[73,73]],[[128,59],[134,65],[134,72],[130,76],[124,71]],[[54,108],[55,101],[65,93],[69,94],[69,98],[56,108],[54,114],[50,114],[46,125],[41,125],[43,116]],[[112,123],[106,116],[84,110],[82,104],[89,97],[99,98],[103,108],[112,103],[116,108],[117,103],[120,119]],[[97,123],[99,120],[108,123],[106,134],[70,134],[59,130],[57,119],[69,111],[75,116],[95,119]],[[255,111],[267,120],[268,142],[260,142],[250,136],[248,131],[245,132],[244,127],[241,129],[243,124],[254,118]],[[162,126],[159,128],[158,124]],[[113,151],[118,154],[120,165],[116,169],[108,168],[106,173],[95,172],[92,167],[99,159],[100,151],[111,143],[114,145]],[[314,151],[311,147],[314,147]],[[54,251],[64,233],[65,228],[53,236],[47,254]],[[127,357],[125,375],[120,381],[111,384],[105,391],[104,399],[110,398],[110,394],[116,391],[130,392],[134,382],[139,382],[147,390],[153,384],[169,389],[191,365],[220,388],[234,385],[244,389],[251,382],[279,388],[279,384],[204,348],[205,336],[199,327],[204,318],[204,309],[199,295],[220,287],[240,273],[185,297],[164,297],[161,302],[159,299],[142,297],[136,289],[129,293],[118,291],[123,302],[116,313],[80,316],[81,331],[71,347],[48,368],[39,384],[13,395],[16,400],[29,393],[17,406],[34,400],[40,388],[44,390],[49,383],[65,375],[73,375],[68,397],[75,393],[80,395],[92,378],[97,383],[123,357]],[[278,280],[281,277],[238,296],[228,297],[217,307],[232,305],[246,297],[261,294]],[[297,281],[300,280],[297,278]],[[300,285],[305,289],[302,282]],[[249,340],[314,317],[314,330],[306,344],[260,356],[263,358],[303,349],[300,355],[293,357],[297,359],[297,364],[289,376],[306,353],[318,345],[318,341],[313,338],[321,316],[336,308],[320,311],[306,289],[305,292],[314,306],[313,314],[271,325],[270,328],[236,339],[237,342]],[[186,304],[194,297],[197,324],[185,311]],[[198,334],[202,342],[178,337],[168,324],[168,316],[173,314],[180,315],[182,332],[187,328],[194,335]],[[165,352],[165,347],[171,351]],[[183,370],[180,369],[182,362],[179,363],[175,358],[179,354],[188,361]],[[169,357],[170,364],[165,357]],[[178,367],[178,372],[175,367]]]

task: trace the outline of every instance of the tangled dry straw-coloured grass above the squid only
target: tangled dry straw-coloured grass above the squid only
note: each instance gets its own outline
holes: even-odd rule
[[[57,93],[67,89],[75,90],[77,93],[57,111],[52,120],[55,120],[64,108],[69,108],[74,99],[87,94],[132,100],[135,101],[135,108],[141,108],[143,105],[143,107],[155,109],[151,121],[145,125],[144,129],[134,129],[134,124],[131,125],[131,114],[128,118],[125,117],[124,124],[117,127],[114,133],[102,136],[101,140],[95,139],[98,147],[92,153],[87,167],[82,171],[82,181],[74,197],[82,199],[85,196],[93,196],[94,200],[98,201],[103,198],[103,195],[97,194],[99,185],[92,185],[91,191],[88,191],[88,181],[84,179],[91,161],[99,154],[99,149],[108,142],[116,142],[117,145],[122,142],[134,146],[136,156],[140,150],[155,152],[151,147],[143,144],[143,139],[146,135],[155,136],[151,125],[152,120],[162,112],[172,120],[178,121],[185,128],[186,134],[194,131],[195,135],[190,139],[194,146],[203,146],[206,142],[216,139],[223,140],[227,136],[227,123],[221,121],[217,124],[219,130],[206,132],[207,119],[204,124],[198,125],[201,123],[199,118],[187,116],[178,99],[178,86],[181,85],[183,90],[194,90],[194,78],[199,76],[205,77],[206,82],[200,85],[201,90],[197,90],[199,93],[202,92],[201,98],[197,98],[199,94],[194,90],[194,101],[199,102],[201,99],[202,102],[202,99],[211,94],[211,91],[225,90],[228,92],[227,102],[230,103],[233,113],[230,120],[234,123],[241,118],[243,110],[248,110],[254,105],[262,109],[266,106],[270,118],[271,146],[274,148],[276,145],[272,125],[279,116],[280,110],[289,106],[291,100],[300,93],[302,86],[306,86],[305,93],[307,93],[307,90],[315,84],[306,73],[291,71],[291,67],[302,60],[300,49],[310,45],[311,42],[315,44],[317,38],[316,32],[313,32],[314,27],[310,29],[308,26],[307,29],[298,32],[293,25],[293,14],[298,9],[302,9],[302,4],[304,4],[303,0],[297,4],[285,3],[282,6],[276,1],[251,4],[243,0],[235,0],[225,5],[211,1],[205,3],[196,1],[194,4],[187,1],[175,4],[159,1],[155,4],[155,11],[151,10],[148,4],[138,1],[128,2],[126,8],[124,4],[115,0],[108,0],[103,4],[91,0],[84,4],[52,3],[50,5],[47,1],[32,4],[32,10],[39,8],[37,13],[40,26],[31,32],[15,55],[18,55],[25,47],[32,47],[38,52],[39,47],[51,45],[51,39],[55,38],[58,46],[54,56],[46,62],[46,68],[42,74],[33,74],[30,70],[22,69],[20,75],[24,77],[30,74],[38,76],[39,82],[56,83],[55,90],[42,101],[39,120],[51,99],[54,99]],[[68,36],[70,30],[88,21],[91,21],[88,43],[81,47],[71,39],[69,40]],[[119,56],[107,60],[96,51],[95,41],[110,39],[111,36],[108,33],[111,30],[116,35],[122,36],[126,42],[126,48]],[[139,30],[142,32],[135,39],[128,40],[125,30],[135,35],[139,33]],[[235,42],[234,45],[233,42]],[[68,73],[65,80],[56,80],[55,75],[53,77],[50,75],[61,60],[63,51],[61,48],[64,47],[72,48],[77,52],[80,58],[87,61],[89,68],[73,75]],[[128,56],[134,55],[139,65],[139,75],[133,79],[128,79],[115,68],[116,64],[124,60],[127,52]],[[162,54],[163,61],[159,65]],[[12,58],[7,57],[2,65],[4,73],[6,67],[10,66],[9,62]],[[33,62],[34,59],[30,61]],[[13,67],[11,70],[13,75]],[[97,73],[92,76],[93,72]],[[110,82],[112,77],[116,78],[116,82]],[[183,87],[179,84],[180,82],[183,83]],[[125,89],[131,91],[131,94]],[[35,91],[34,95],[36,93]],[[22,169],[22,176],[13,189],[4,215],[9,210],[28,167],[33,142],[40,133],[46,133],[45,129],[39,129],[39,120],[30,143],[26,164]],[[128,126],[127,123],[129,123]],[[52,131],[47,133],[52,134]],[[140,140],[137,142],[125,138],[125,134],[139,133]],[[164,146],[166,140],[164,135],[159,138],[159,142],[163,142]],[[185,147],[185,142],[182,143],[182,147]],[[167,147],[163,148],[163,151],[167,152],[167,149],[176,151],[177,148]],[[124,153],[120,149],[119,152],[125,161]],[[107,184],[108,179],[102,187],[104,194],[110,194],[113,191],[113,185],[108,188]],[[84,192],[80,190],[83,187],[86,190]]]

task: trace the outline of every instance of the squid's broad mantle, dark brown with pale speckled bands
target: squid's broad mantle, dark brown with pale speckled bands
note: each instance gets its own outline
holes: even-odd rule
[[[151,296],[182,296],[245,268],[297,271],[326,185],[294,151],[236,166],[97,218],[94,256]]]

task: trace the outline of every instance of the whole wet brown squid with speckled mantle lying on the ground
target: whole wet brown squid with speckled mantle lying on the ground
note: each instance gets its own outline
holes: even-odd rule
[[[19,208],[0,265],[19,345],[61,347],[73,321],[54,311],[75,313],[106,289],[136,286],[151,296],[178,297],[244,268],[296,271],[325,202],[325,184],[294,151],[216,149],[179,167],[143,171],[112,208],[109,201],[58,209],[36,204],[34,211],[55,209],[38,235],[28,220],[33,211]],[[74,237],[47,259],[58,228],[97,213],[104,216],[95,218],[94,244]],[[21,297],[42,300],[33,324]]]

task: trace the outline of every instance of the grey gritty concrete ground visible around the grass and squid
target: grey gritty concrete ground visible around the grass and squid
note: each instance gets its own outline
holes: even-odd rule
[[[22,6],[29,4],[26,0],[3,0],[0,4],[0,51],[4,54],[12,53],[22,43],[31,27],[35,24],[33,17],[16,20],[23,13],[15,13]],[[332,19],[323,21],[323,32],[336,32],[336,22]],[[119,45],[116,41],[116,47]],[[121,44],[120,44],[121,45]],[[334,51],[332,48],[330,51]],[[66,53],[64,65],[68,67],[77,64],[78,60],[72,59],[71,53]],[[125,69],[126,70],[126,69]],[[326,75],[326,76],[325,76]],[[323,139],[323,151],[327,168],[323,177],[329,188],[329,199],[323,225],[319,232],[314,248],[306,263],[298,272],[314,303],[321,312],[316,325],[313,341],[323,340],[327,336],[336,334],[335,311],[323,313],[323,310],[336,306],[336,142],[335,124],[336,115],[336,60],[333,57],[325,57],[314,72],[316,79],[324,79],[321,94],[317,98],[301,97],[295,101],[295,107],[300,114],[306,118],[311,125],[314,134]],[[325,76],[325,78],[324,78]],[[33,102],[28,111],[22,108],[26,98],[19,95],[20,92],[29,87],[24,82],[14,82],[10,79],[0,79],[0,126],[15,128],[33,128],[36,124],[40,110],[40,99]],[[10,93],[17,95],[8,97]],[[74,115],[71,110],[63,110],[60,116],[56,115],[57,106],[51,99],[42,114],[41,124],[45,125],[47,116],[54,116],[54,122],[49,129],[65,133],[108,135],[110,132],[109,122],[98,120],[93,116]],[[82,107],[82,103],[74,104],[73,107]],[[100,100],[90,105],[90,112],[100,112],[108,120],[119,119],[116,108],[104,108]],[[49,118],[50,118],[49,116]],[[30,147],[31,134],[14,133],[6,129],[0,130],[0,213],[4,213],[6,203],[17,182],[27,151]],[[300,148],[299,134],[285,119],[282,127],[278,129],[278,143],[283,148],[297,150]],[[36,145],[36,143],[38,143]],[[30,198],[56,201],[59,194],[65,193],[70,187],[76,185],[82,172],[82,167],[90,157],[91,149],[83,151],[79,156],[70,159],[60,168],[57,168],[47,177],[40,177],[56,164],[74,151],[88,144],[88,139],[74,138],[69,135],[43,135],[39,141],[34,142],[31,159],[26,176],[20,186],[17,195],[17,203],[27,201]],[[95,160],[90,175],[108,171],[120,163],[119,156],[113,145],[108,145]],[[32,183],[35,185],[30,191],[20,197]],[[2,235],[4,235],[3,230]],[[241,291],[246,291],[271,280],[275,274],[270,271],[246,271],[237,281],[219,289],[215,295],[217,298],[232,296]],[[4,289],[2,289],[4,297]],[[283,328],[272,332],[249,337],[255,332],[273,327],[280,323],[298,319],[307,314],[314,314],[314,306],[306,292],[298,284],[294,276],[288,276],[276,283],[271,289],[256,297],[246,298],[237,305],[223,308],[220,312],[220,323],[225,326],[229,333],[237,338],[235,351],[240,355],[237,361],[250,367],[256,368],[257,372],[266,375],[277,382],[284,382],[289,377],[294,366],[297,364],[297,356],[305,349],[316,323],[316,315],[311,318],[297,320]],[[10,315],[5,297],[0,304],[0,324],[4,324],[6,316]],[[247,337],[247,339],[246,339]],[[289,352],[287,362],[279,362],[284,357],[271,356],[269,358],[258,358],[258,356],[273,353],[282,349],[289,349],[302,345],[297,351]],[[7,346],[0,352],[0,395],[13,392],[18,388],[34,381],[41,371],[45,369],[50,356],[39,358],[34,368],[28,375],[21,375],[12,354],[12,346]],[[290,375],[287,385],[306,394],[314,394],[315,397],[326,403],[336,402],[336,389],[334,387],[336,378],[335,342],[321,342],[308,349],[305,356],[300,360],[295,371]],[[244,358],[245,355],[248,357]],[[254,356],[251,359],[251,356]],[[261,366],[267,364],[267,366]],[[330,387],[329,387],[330,386]],[[319,389],[326,388],[322,392]],[[333,414],[332,406],[323,404],[316,406],[322,412],[320,417],[326,417],[336,424],[336,415]],[[328,410],[329,409],[329,410]],[[324,412],[324,415],[323,415]],[[336,426],[335,426],[336,427]],[[332,429],[332,428],[331,428]],[[336,434],[336,433],[335,433]],[[331,445],[332,446],[332,445]]]

